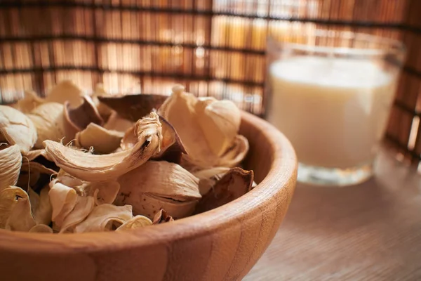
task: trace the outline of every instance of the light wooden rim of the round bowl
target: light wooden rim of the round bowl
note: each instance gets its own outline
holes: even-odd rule
[[[127,232],[57,235],[0,230],[0,249],[56,255],[71,254],[75,249],[98,252],[111,249],[114,251],[117,249],[133,249],[133,247],[150,247],[170,240],[185,240],[198,235],[208,235],[215,230],[226,228],[234,221],[243,220],[248,214],[252,214],[255,209],[260,208],[260,202],[271,199],[284,188],[288,188],[291,181],[296,180],[298,164],[293,146],[274,126],[247,112],[241,112],[241,122],[257,127],[269,141],[273,152],[273,161],[268,174],[246,195],[222,207],[201,214],[171,223],[162,223]],[[243,204],[243,202],[247,202],[247,204]]]

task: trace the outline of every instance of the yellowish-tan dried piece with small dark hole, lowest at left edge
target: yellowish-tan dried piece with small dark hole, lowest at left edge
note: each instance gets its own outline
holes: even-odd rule
[[[0,228],[29,231],[35,224],[25,190],[17,186],[0,190]]]

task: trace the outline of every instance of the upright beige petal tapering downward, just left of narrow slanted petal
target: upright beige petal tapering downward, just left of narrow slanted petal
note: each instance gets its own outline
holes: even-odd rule
[[[69,188],[62,183],[54,182],[51,184],[48,195],[50,195],[50,202],[53,207],[51,220],[54,221],[55,225],[60,227],[62,226],[65,217],[70,214],[76,205],[78,195],[73,188]]]

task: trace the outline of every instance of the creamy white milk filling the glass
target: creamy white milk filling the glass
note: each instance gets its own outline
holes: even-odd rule
[[[395,79],[369,60],[303,56],[269,67],[267,119],[298,161],[347,169],[370,164],[387,126]]]

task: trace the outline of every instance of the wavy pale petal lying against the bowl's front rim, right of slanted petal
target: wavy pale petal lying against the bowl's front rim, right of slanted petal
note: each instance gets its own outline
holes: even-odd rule
[[[132,207],[130,205],[114,206],[113,204],[101,204],[93,208],[88,218],[74,228],[74,233],[110,231],[113,227],[118,228],[132,217]]]

